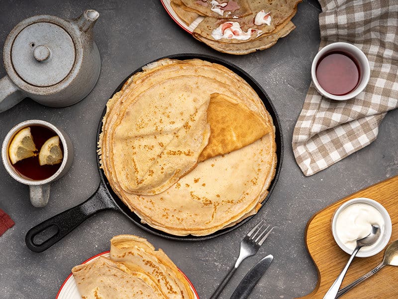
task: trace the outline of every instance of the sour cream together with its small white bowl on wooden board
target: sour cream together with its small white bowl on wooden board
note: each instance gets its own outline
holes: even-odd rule
[[[377,201],[365,197],[351,199],[333,215],[334,240],[343,251],[352,254],[356,241],[369,235],[373,224],[380,226],[379,240],[371,246],[362,247],[357,257],[366,258],[381,252],[391,238],[392,223],[387,210]]]

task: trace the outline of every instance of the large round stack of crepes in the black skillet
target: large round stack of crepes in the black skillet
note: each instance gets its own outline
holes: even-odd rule
[[[163,59],[107,104],[101,167],[143,223],[203,236],[255,214],[275,175],[275,129],[241,77],[219,64]]]

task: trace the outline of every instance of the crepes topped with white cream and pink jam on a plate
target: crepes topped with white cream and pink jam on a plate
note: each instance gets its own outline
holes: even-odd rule
[[[291,19],[299,2],[301,0],[171,0],[171,6],[187,25],[199,16],[204,17],[193,32],[195,38],[217,51],[243,55],[273,46],[296,28]],[[232,28],[231,24],[234,24]]]

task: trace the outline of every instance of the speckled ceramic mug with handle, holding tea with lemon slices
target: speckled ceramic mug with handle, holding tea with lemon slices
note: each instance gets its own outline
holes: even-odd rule
[[[64,156],[58,170],[50,177],[42,180],[33,180],[26,177],[22,177],[12,166],[8,156],[8,147],[13,137],[21,129],[29,126],[43,126],[54,131],[58,135],[62,146],[64,148]],[[70,168],[73,160],[73,145],[68,135],[62,130],[58,129],[54,125],[40,120],[29,120],[19,123],[13,127],[8,134],[5,136],[2,148],[1,158],[5,167],[5,170],[18,182],[29,185],[29,196],[30,202],[35,207],[44,207],[48,203],[50,197],[50,183],[62,177]]]

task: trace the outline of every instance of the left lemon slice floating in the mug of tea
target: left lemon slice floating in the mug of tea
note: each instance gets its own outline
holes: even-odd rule
[[[11,144],[8,148],[8,156],[12,164],[16,162],[34,156],[36,146],[33,142],[30,128],[24,128],[20,130],[12,139]]]

